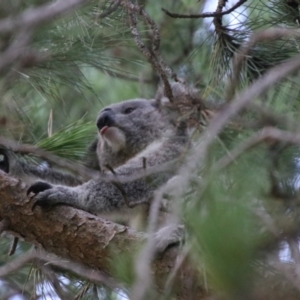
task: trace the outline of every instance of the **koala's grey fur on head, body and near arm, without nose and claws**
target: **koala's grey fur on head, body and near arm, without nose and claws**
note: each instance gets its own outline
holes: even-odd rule
[[[134,110],[126,114],[129,108]],[[53,186],[36,195],[36,205],[67,204],[91,213],[122,211],[128,203],[149,203],[155,190],[174,175],[189,139],[177,128],[169,108],[158,109],[155,100],[134,99],[106,107],[98,122],[103,116],[113,125],[99,133],[100,168],[104,174],[114,173],[110,177],[120,182],[123,195],[113,182],[96,178],[76,187]],[[145,173],[150,175],[142,176]],[[136,174],[142,177],[131,179]],[[34,185],[30,190],[34,192]]]

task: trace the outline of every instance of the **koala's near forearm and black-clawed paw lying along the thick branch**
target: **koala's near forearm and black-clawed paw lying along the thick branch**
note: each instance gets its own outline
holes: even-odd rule
[[[126,194],[128,203],[146,203],[155,190],[146,184],[144,179],[121,185],[122,192],[115,184],[101,179],[92,179],[77,187],[45,184],[46,190],[38,193],[34,206],[51,207],[56,204],[66,204],[94,214],[106,213],[127,206],[122,193]],[[40,182],[35,183],[29,188],[28,193],[31,191],[36,193],[40,186]]]

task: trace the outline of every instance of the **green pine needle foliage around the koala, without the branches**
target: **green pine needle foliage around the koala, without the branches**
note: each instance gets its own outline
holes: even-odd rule
[[[1,135],[79,162],[96,135],[94,120],[103,106],[154,97],[159,83],[157,70],[135,44],[126,10],[120,5],[102,18],[112,1],[87,2],[34,31],[32,60],[27,57],[25,62],[0,69]],[[233,58],[253,33],[274,26],[295,29],[299,24],[297,1],[248,0],[231,14],[214,18],[170,18],[161,10],[201,13],[210,1],[136,2],[159,28],[160,52],[166,64],[197,87],[206,105],[215,111],[227,104],[235,71]],[[43,3],[3,1],[0,22]],[[150,48],[153,33],[141,17],[138,29]],[[0,54],[14,38],[0,30]],[[258,41],[242,61],[233,94],[298,53],[299,35]],[[188,252],[193,261],[194,281],[204,277],[206,292],[214,293],[216,299],[299,299],[299,140],[291,146],[284,138],[270,137],[231,158],[236,148],[264,128],[299,134],[299,81],[298,73],[289,74],[253,99],[254,106],[222,128],[205,158],[194,162],[200,166],[178,209],[187,231],[182,252]],[[200,137],[195,149],[201,149],[201,142]],[[225,166],[224,159],[229,161]],[[1,243],[1,265],[5,265],[11,259],[5,254],[8,237],[2,237]],[[14,256],[29,248],[19,242]],[[294,281],[286,265],[292,266]],[[130,273],[134,282],[127,261],[116,269],[125,277]],[[120,294],[125,294],[61,270],[45,271],[39,264],[25,266],[0,283],[1,299],[48,299],[49,284],[53,299],[61,297],[56,296],[60,292],[69,298],[77,295],[75,299],[121,299]]]

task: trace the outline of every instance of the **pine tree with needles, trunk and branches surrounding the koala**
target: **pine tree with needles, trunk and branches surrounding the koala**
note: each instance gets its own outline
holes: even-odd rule
[[[1,1],[0,167],[9,148],[88,176],[105,105],[158,85],[171,99],[172,81],[201,105],[184,110],[195,146],[173,214],[185,242],[161,257],[85,212],[32,212],[0,173],[0,298],[299,299],[299,5]]]

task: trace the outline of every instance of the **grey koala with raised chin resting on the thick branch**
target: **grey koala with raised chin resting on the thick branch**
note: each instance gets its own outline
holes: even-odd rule
[[[177,90],[181,91],[178,87]],[[174,95],[175,100],[181,97],[186,95]],[[33,208],[64,204],[107,216],[130,212],[137,204],[150,205],[155,191],[176,175],[190,147],[179,110],[163,96],[107,106],[100,111],[96,126],[97,139],[89,153],[90,165],[100,170],[97,178],[76,182],[71,177],[65,180],[58,171],[28,166],[21,166],[19,174],[12,172],[17,177],[21,174],[21,178],[31,174],[29,177],[45,180],[31,184],[27,190],[27,195],[35,198]],[[2,167],[9,168],[5,162]],[[170,232],[169,239],[165,239],[166,230]],[[182,226],[160,232],[157,244],[163,251],[181,239]]]

